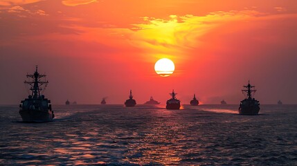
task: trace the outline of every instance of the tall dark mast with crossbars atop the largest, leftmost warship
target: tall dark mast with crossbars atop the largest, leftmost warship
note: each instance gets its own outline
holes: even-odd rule
[[[33,99],[39,98],[40,96],[40,91],[42,91],[41,86],[43,84],[45,84],[45,86],[47,86],[48,81],[42,81],[40,80],[42,77],[46,77],[46,75],[42,75],[38,73],[38,66],[36,66],[36,71],[34,74],[27,74],[26,77],[30,77],[33,80],[31,81],[24,81],[25,84],[29,84],[30,87],[30,91],[32,91],[32,97]],[[45,89],[45,87],[44,87]]]

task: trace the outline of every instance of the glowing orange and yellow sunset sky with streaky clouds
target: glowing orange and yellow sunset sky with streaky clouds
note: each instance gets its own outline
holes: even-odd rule
[[[160,77],[154,64],[175,64]],[[250,80],[261,104],[297,104],[296,0],[1,0],[0,104],[48,75],[47,98],[78,104],[239,104]]]

